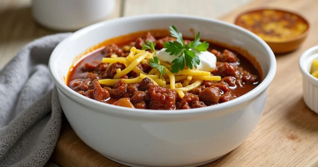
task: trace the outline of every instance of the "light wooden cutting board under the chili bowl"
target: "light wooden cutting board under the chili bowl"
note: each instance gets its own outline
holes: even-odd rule
[[[318,166],[318,115],[302,99],[298,68],[301,53],[318,45],[318,1],[256,0],[220,19],[233,23],[240,12],[259,7],[298,11],[310,21],[311,32],[300,49],[276,55],[277,73],[270,85],[264,115],[252,135],[225,157],[204,166]],[[67,122],[52,159],[63,167],[123,166],[89,148]]]

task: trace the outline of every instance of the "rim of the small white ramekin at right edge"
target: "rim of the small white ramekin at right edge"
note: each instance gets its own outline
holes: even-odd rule
[[[311,52],[317,52],[316,56],[311,55]],[[303,52],[299,58],[299,69],[301,71],[302,76],[304,76],[307,80],[309,80],[312,84],[318,86],[318,78],[312,76],[308,70],[307,66],[309,65],[307,62],[307,59],[315,59],[318,58],[318,45],[315,45],[309,49],[307,49],[305,52]]]

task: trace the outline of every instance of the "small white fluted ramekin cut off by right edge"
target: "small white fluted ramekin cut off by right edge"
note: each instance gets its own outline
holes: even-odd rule
[[[318,114],[318,79],[309,72],[314,59],[318,59],[318,45],[309,48],[299,59],[302,74],[303,97],[308,108]]]

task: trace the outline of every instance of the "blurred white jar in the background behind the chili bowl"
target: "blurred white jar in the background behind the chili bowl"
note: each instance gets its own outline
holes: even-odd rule
[[[115,0],[32,0],[35,20],[45,27],[73,31],[105,20]]]

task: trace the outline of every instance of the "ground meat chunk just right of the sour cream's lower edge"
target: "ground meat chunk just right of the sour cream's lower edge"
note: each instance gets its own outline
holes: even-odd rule
[[[216,69],[212,71],[213,75],[219,75],[221,77],[226,77],[226,76],[236,76],[236,69],[233,65],[229,63],[221,63],[217,62],[216,63]]]

